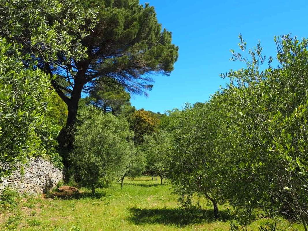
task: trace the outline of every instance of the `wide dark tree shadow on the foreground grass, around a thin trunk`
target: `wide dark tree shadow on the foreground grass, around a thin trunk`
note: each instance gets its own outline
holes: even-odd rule
[[[185,226],[189,224],[210,223],[217,221],[214,218],[213,210],[210,209],[129,209],[129,220],[138,224],[164,224]],[[233,219],[227,210],[220,211],[218,221]]]

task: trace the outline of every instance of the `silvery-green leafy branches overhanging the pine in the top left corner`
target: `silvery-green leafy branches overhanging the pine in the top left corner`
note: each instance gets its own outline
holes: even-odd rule
[[[0,5],[0,35],[23,44],[24,51],[45,60],[59,52],[69,60],[86,57],[80,39],[93,29],[97,11],[80,0],[7,0]],[[62,64],[61,62],[58,64]]]

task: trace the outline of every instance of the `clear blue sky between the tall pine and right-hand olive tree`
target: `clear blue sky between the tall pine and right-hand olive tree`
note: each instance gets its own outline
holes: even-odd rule
[[[137,109],[164,112],[185,102],[204,102],[225,86],[219,74],[241,67],[229,61],[238,50],[238,34],[253,48],[261,41],[264,54],[275,56],[274,35],[292,33],[308,37],[308,1],[140,0],[155,6],[162,26],[172,32],[180,47],[172,74],[154,76],[149,97],[133,95]]]

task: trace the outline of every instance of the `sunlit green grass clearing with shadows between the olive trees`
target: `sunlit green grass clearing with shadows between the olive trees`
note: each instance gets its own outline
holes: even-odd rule
[[[150,177],[126,179],[97,189],[96,197],[83,189],[79,199],[26,197],[19,207],[0,214],[0,230],[25,231],[117,231],[117,230],[228,230],[232,217],[220,206],[221,218],[214,220],[209,201],[201,208],[181,209],[171,185],[159,185]],[[265,221],[255,222],[251,228]],[[284,221],[287,225],[287,222]],[[302,230],[300,225],[294,228]],[[286,229],[294,230],[294,229]]]

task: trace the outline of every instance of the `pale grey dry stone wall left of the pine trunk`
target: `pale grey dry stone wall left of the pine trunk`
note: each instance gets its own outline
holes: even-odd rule
[[[27,164],[18,166],[9,177],[0,181],[0,193],[5,187],[16,189],[19,193],[46,193],[62,180],[63,172],[50,162],[38,157]]]

